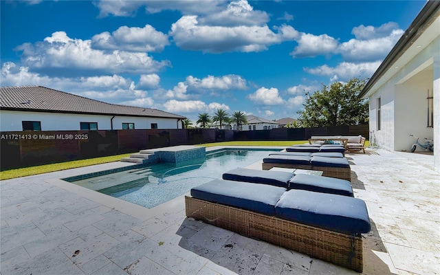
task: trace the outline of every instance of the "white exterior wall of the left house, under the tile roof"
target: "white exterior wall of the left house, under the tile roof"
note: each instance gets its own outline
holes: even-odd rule
[[[97,122],[98,130],[111,130],[113,115],[83,115],[76,113],[43,113],[33,111],[0,111],[1,131],[22,131],[22,121],[40,121],[41,131],[79,131],[80,122]],[[135,123],[135,129],[151,129],[157,123],[158,129],[181,129],[176,118],[140,118],[115,116],[113,129],[122,129],[122,122]]]

